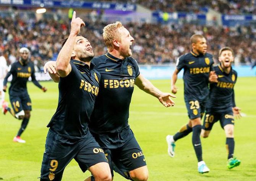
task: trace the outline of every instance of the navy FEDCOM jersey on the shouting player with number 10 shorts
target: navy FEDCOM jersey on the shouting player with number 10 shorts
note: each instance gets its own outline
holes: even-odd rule
[[[209,101],[206,107],[211,109],[227,109],[235,107],[234,101],[234,85],[237,82],[237,72],[232,69],[226,74],[222,67],[214,67],[215,73],[218,75],[218,83],[210,84]]]

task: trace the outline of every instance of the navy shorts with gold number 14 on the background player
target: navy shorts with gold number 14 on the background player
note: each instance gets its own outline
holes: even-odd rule
[[[28,93],[24,93],[22,95],[10,95],[10,102],[15,114],[22,110],[32,110],[31,99]]]

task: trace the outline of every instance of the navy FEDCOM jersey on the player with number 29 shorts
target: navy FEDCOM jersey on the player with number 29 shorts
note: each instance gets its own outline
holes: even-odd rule
[[[184,69],[185,101],[197,99],[203,101],[209,94],[209,73],[213,70],[214,61],[209,53],[197,55],[192,51],[177,59],[177,69]]]

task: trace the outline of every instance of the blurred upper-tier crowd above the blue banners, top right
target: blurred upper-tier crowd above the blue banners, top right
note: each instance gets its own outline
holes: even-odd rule
[[[120,0],[107,0],[109,2],[120,2]],[[142,5],[153,11],[164,12],[206,12],[208,8],[223,14],[255,14],[255,0],[121,0],[122,3],[134,3]]]

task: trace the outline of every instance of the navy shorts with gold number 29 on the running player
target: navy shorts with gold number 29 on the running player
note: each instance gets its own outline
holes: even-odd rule
[[[203,117],[206,101],[198,101],[197,99],[191,98],[188,101],[185,101],[186,108],[188,110],[188,117],[190,119],[196,119],[198,117]]]

